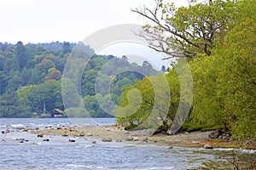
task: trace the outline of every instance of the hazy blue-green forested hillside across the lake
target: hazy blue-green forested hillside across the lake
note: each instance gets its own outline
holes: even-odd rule
[[[0,43],[0,117],[31,117],[53,109],[65,109],[61,96],[61,76],[65,62],[76,45],[83,46],[89,53],[94,50],[70,42],[51,42],[38,44]],[[86,65],[81,83],[81,95],[90,116],[110,116],[97,104],[95,82],[102,65],[114,61],[114,69],[130,68],[156,72],[148,62],[143,66],[129,63],[127,57],[94,55]],[[122,87],[133,84],[135,79],[144,76],[136,72],[125,72],[118,75],[111,85],[113,100],[119,103]],[[102,96],[104,97],[104,96]],[[44,107],[45,106],[45,107]],[[45,111],[44,111],[45,108]],[[37,113],[37,115],[32,115]],[[69,115],[71,116],[71,115]],[[73,111],[72,116],[79,116]]]

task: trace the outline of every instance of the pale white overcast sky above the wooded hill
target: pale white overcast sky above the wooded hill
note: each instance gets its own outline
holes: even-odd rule
[[[173,0],[177,6],[187,0]],[[102,28],[145,25],[131,12],[154,0],[0,0],[0,42],[79,42]]]

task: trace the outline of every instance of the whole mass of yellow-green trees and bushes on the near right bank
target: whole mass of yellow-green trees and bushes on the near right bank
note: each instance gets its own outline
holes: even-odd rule
[[[181,101],[177,67],[187,59],[193,76],[193,102],[183,131],[221,129],[236,139],[256,136],[256,3],[253,0],[209,1],[175,8],[173,3],[156,1],[156,8],[136,8],[137,14],[153,21],[141,36],[149,46],[177,57],[166,79],[171,91],[170,109],[162,120],[173,121]],[[149,22],[152,23],[152,22]],[[162,33],[170,37],[160,36]],[[155,45],[155,41],[159,42]],[[154,106],[154,88],[145,77],[126,88],[119,106],[128,105],[126,94],[140,90],[142,105],[119,123],[136,127],[147,121]],[[121,110],[118,110],[121,111]],[[129,111],[123,111],[128,115]],[[163,124],[162,129],[172,126]]]

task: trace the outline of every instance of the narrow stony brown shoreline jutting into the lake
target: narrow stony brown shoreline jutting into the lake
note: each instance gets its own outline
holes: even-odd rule
[[[146,130],[125,131],[116,125],[87,126],[87,127],[57,127],[31,130],[31,133],[41,135],[59,135],[63,137],[83,137],[102,140],[103,142],[131,142],[134,144],[158,144],[180,147],[199,147],[210,144],[213,148],[236,148],[256,150],[255,141],[236,141],[227,139],[210,139],[207,132],[177,133],[174,135],[156,134],[149,135]]]

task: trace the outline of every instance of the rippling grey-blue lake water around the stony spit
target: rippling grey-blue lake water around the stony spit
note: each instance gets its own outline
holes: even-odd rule
[[[232,149],[203,150],[128,142],[92,144],[92,139],[49,136],[44,142],[35,134],[24,133],[20,127],[102,126],[114,123],[107,119],[31,118],[0,119],[0,129],[14,132],[0,134],[0,169],[232,169],[227,161]],[[17,138],[28,139],[19,143]],[[255,159],[255,150],[239,150],[242,166]]]

